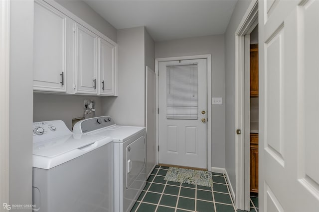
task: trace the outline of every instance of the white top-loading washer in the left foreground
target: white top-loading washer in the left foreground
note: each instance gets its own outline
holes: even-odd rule
[[[60,120],[33,123],[33,211],[113,212],[112,141]]]

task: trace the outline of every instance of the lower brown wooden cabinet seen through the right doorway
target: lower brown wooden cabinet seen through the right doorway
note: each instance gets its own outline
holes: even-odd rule
[[[258,193],[258,134],[250,134],[250,192]]]

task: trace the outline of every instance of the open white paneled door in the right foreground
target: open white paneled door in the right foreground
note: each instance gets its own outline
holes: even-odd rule
[[[319,211],[319,1],[259,3],[261,212]]]

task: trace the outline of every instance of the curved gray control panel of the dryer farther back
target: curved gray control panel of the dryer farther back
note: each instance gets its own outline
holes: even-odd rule
[[[73,133],[84,134],[113,125],[115,125],[115,123],[110,116],[99,116],[77,122],[73,127]]]

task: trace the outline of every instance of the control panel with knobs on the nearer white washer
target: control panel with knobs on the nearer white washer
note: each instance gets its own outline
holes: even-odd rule
[[[33,143],[72,134],[63,121],[33,122]]]

